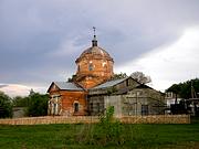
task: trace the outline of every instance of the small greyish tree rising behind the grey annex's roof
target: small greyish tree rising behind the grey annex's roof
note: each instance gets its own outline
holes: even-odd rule
[[[150,76],[146,76],[143,72],[134,72],[130,76],[142,84],[147,84],[151,82]]]

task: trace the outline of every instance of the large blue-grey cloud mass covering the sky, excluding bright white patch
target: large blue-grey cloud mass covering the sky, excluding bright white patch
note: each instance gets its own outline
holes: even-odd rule
[[[184,30],[199,24],[198,4],[198,0],[1,0],[1,83],[48,87],[52,81],[65,81],[75,73],[76,57],[91,46],[93,25],[98,45],[116,67],[132,63],[174,44]]]

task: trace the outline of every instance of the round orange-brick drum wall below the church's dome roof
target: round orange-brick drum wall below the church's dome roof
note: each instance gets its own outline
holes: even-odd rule
[[[93,65],[92,71],[88,68],[90,64]],[[76,82],[85,88],[94,87],[113,76],[113,60],[87,55],[76,63]]]

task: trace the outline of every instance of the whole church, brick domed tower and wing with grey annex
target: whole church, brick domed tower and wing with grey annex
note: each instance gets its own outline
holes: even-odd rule
[[[164,114],[165,95],[132,77],[112,79],[114,60],[97,45],[76,58],[76,73],[71,82],[52,82],[48,93],[49,115],[98,115],[114,106],[115,116]]]

